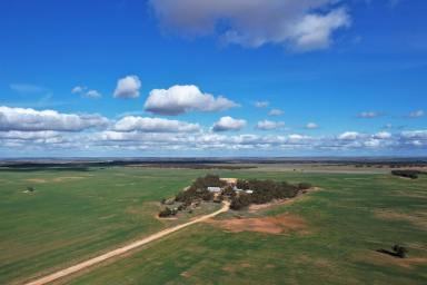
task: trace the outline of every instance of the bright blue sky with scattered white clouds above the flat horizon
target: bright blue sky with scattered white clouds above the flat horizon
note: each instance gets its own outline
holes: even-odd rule
[[[176,2],[2,1],[0,156],[427,155],[425,1]]]

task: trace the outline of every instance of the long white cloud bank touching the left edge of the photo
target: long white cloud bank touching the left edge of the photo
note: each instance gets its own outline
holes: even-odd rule
[[[0,130],[80,131],[108,125],[100,115],[60,114],[56,110],[10,108],[0,106]]]

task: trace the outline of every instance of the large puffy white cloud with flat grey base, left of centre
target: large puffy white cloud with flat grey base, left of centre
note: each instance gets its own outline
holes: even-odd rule
[[[159,115],[180,115],[189,111],[220,111],[238,104],[224,96],[203,94],[197,86],[172,86],[169,89],[153,89],[147,98],[145,109]]]

